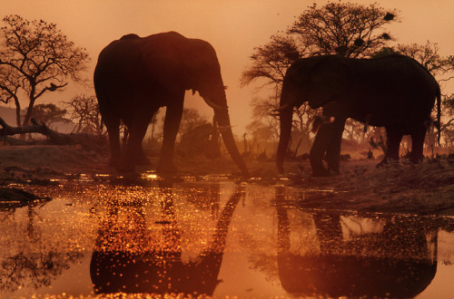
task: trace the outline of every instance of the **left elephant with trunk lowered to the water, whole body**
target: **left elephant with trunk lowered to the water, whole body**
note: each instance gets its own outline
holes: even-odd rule
[[[230,124],[221,67],[210,43],[175,32],[139,37],[124,35],[99,54],[94,70],[94,89],[109,133],[111,164],[132,170],[148,164],[142,140],[153,114],[166,106],[163,147],[157,165],[161,173],[176,171],[175,138],[183,114],[184,92],[199,92],[214,110],[222,139],[244,175],[242,160]],[[120,148],[119,125],[129,130],[125,149]]]

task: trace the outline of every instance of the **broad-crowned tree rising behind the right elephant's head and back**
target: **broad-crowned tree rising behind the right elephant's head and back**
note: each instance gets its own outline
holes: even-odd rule
[[[396,12],[387,12],[373,5],[329,3],[319,8],[310,6],[284,33],[271,36],[271,42],[254,48],[252,60],[242,72],[242,86],[261,80],[259,88],[271,86],[269,99],[252,101],[257,118],[274,117],[270,111],[279,107],[281,83],[291,63],[315,54],[339,54],[346,57],[368,57],[390,42],[390,33],[384,25],[396,21]],[[266,109],[263,109],[266,107]],[[306,103],[294,110],[294,130],[301,131],[301,140],[311,142],[311,121],[319,111]],[[352,122],[352,124],[354,124]],[[353,128],[352,128],[353,129]],[[295,144],[301,143],[293,142]]]

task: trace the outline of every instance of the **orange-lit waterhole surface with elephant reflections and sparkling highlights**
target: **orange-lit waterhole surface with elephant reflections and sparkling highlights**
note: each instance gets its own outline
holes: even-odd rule
[[[52,200],[0,209],[1,298],[454,294],[449,217],[309,210],[317,190],[225,179],[25,188]]]

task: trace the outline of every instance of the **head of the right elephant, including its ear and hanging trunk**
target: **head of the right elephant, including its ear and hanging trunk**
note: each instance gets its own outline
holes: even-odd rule
[[[287,70],[282,82],[280,108],[281,136],[276,154],[279,173],[283,173],[283,159],[291,138],[293,107],[308,102],[320,108],[331,101],[342,101],[352,82],[350,67],[340,56],[302,58]]]

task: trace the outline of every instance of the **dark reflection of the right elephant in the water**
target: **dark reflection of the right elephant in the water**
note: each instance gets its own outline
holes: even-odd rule
[[[312,218],[319,247],[301,252],[291,244],[288,210],[277,207],[277,212],[279,277],[291,294],[410,298],[437,271],[437,235],[420,219],[387,217],[379,231],[348,239],[341,216],[316,212]]]

